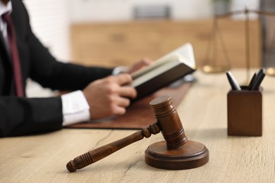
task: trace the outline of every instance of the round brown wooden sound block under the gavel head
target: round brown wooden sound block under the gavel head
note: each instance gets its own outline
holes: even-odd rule
[[[168,149],[166,141],[150,145],[145,151],[145,163],[154,168],[167,170],[185,170],[205,165],[209,160],[209,151],[197,141],[186,141],[183,146]]]

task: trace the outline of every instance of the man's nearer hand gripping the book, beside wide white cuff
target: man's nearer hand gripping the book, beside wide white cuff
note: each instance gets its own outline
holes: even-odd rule
[[[123,115],[130,105],[129,98],[135,98],[137,92],[130,84],[129,74],[105,77],[91,82],[83,94],[90,106],[90,118],[106,118],[110,115]]]

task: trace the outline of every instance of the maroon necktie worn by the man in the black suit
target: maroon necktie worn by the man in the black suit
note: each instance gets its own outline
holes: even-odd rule
[[[7,24],[8,44],[11,50],[11,58],[13,60],[13,76],[16,83],[16,95],[24,96],[20,59],[16,45],[16,32],[13,27],[11,16],[8,13],[4,13],[2,18]]]

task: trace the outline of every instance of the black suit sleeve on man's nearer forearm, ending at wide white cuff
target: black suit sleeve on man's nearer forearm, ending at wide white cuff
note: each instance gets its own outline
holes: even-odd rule
[[[60,130],[62,128],[60,97],[27,99],[0,97],[0,137],[20,136]]]

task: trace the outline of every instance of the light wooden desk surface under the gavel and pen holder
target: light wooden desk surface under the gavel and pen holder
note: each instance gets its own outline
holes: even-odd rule
[[[245,70],[232,70],[245,82]],[[195,72],[198,81],[177,108],[188,139],[209,149],[209,163],[191,170],[161,170],[145,163],[144,151],[161,134],[142,139],[77,172],[66,163],[135,130],[61,130],[0,139],[0,182],[274,182],[275,77],[266,77],[263,136],[228,137],[226,75]]]

